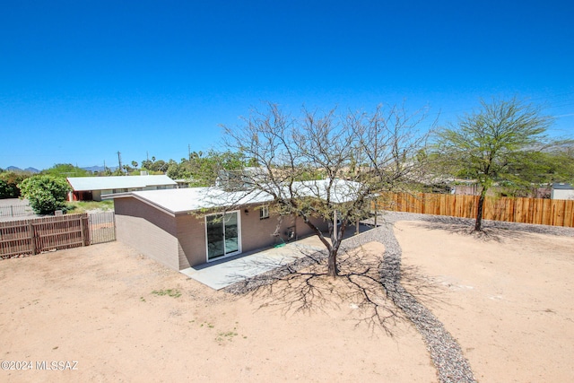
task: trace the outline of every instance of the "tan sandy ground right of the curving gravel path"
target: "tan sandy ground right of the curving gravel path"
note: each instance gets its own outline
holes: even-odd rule
[[[398,222],[403,265],[437,283],[422,297],[484,382],[574,377],[574,238]]]

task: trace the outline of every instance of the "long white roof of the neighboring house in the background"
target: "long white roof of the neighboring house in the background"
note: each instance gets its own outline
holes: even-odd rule
[[[178,185],[165,175],[158,176],[112,176],[112,177],[68,177],[74,191],[112,190],[136,187]]]

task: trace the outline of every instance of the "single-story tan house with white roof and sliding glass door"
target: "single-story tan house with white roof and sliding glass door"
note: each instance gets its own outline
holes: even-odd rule
[[[117,240],[175,270],[313,233],[300,217],[270,213],[273,197],[262,192],[190,187],[112,197]],[[312,222],[328,229],[322,218]]]

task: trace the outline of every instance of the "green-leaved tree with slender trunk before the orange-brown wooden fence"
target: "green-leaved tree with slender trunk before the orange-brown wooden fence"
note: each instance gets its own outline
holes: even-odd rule
[[[444,169],[474,178],[482,187],[474,230],[482,230],[484,199],[496,185],[520,188],[540,174],[551,118],[531,104],[512,100],[481,101],[481,109],[440,129],[436,149]]]

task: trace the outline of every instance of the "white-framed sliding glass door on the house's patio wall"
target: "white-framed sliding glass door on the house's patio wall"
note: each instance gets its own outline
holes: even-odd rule
[[[205,216],[207,261],[232,256],[241,251],[239,212]]]

